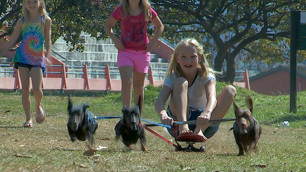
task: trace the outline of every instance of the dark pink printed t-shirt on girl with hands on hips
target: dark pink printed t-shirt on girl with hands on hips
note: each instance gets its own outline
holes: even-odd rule
[[[145,50],[149,38],[147,35],[148,21],[144,19],[144,14],[140,13],[138,16],[124,17],[124,11],[117,6],[111,14],[116,20],[120,20],[121,25],[121,42],[126,49],[130,50]],[[152,19],[157,16],[154,9],[151,8]]]

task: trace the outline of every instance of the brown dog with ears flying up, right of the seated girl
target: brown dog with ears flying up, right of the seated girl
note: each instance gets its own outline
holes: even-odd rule
[[[248,98],[247,102],[249,109],[240,109],[233,99],[236,121],[230,130],[233,130],[236,143],[239,147],[238,155],[244,155],[244,153],[250,152],[252,156],[252,151],[257,148],[257,142],[262,128],[252,115],[252,99]]]

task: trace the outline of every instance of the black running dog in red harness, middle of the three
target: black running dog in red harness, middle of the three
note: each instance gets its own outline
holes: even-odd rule
[[[141,150],[147,151],[146,136],[144,134],[144,126],[140,123],[140,99],[134,108],[128,110],[126,107],[122,109],[123,118],[116,124],[115,132],[116,139],[121,136],[122,142],[129,147],[131,144],[136,144],[140,139]]]

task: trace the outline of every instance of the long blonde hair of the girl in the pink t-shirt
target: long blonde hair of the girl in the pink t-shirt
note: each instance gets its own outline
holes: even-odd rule
[[[123,18],[128,17],[129,15],[129,0],[119,0],[121,4],[121,9],[124,12]],[[152,11],[151,11],[151,4],[148,0],[140,0],[139,2],[140,9],[143,10],[144,19],[146,21],[151,20],[152,18]]]

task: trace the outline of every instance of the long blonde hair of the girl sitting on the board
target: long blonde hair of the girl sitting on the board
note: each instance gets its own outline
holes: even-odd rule
[[[192,46],[196,49],[199,57],[199,63],[197,65],[198,68],[198,74],[200,75],[201,79],[204,79],[207,77],[208,73],[212,73],[214,76],[216,74],[219,74],[219,72],[214,71],[207,59],[206,56],[208,54],[205,53],[204,47],[194,38],[185,38],[181,40],[177,46],[174,49],[173,54],[171,55],[169,66],[166,72],[166,78],[171,74],[171,73],[177,73],[179,77],[184,77],[183,70],[181,69],[180,64],[177,63],[175,56],[180,52],[181,47],[183,46]]]

